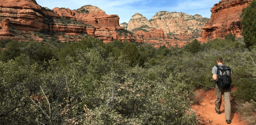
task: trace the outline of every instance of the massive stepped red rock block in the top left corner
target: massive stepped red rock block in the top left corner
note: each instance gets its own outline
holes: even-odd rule
[[[6,0],[0,2],[0,17],[20,30],[38,30],[44,27],[41,7],[33,0]]]

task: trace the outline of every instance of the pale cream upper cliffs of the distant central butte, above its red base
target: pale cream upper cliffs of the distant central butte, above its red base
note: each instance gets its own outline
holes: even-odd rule
[[[188,15],[183,12],[168,12],[159,11],[148,20],[143,15],[135,12],[128,23],[128,30],[136,30],[136,28],[141,28],[144,30],[150,30],[152,28],[160,28],[166,34],[177,34],[181,33],[193,34],[193,32],[203,31],[203,26],[209,21],[208,18],[202,18],[201,15]],[[195,33],[196,34],[196,33]]]

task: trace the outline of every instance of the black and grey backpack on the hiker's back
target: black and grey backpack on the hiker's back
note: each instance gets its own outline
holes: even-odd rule
[[[220,89],[228,89],[231,86],[231,69],[228,66],[216,65],[217,69],[217,79],[216,84]]]

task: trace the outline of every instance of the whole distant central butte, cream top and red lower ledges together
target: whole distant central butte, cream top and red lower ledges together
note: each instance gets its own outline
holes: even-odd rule
[[[128,25],[121,26],[135,33],[138,42],[153,44],[156,48],[163,45],[183,47],[194,39],[201,41],[202,28],[208,21],[209,18],[198,14],[192,16],[175,11],[159,11],[148,20],[135,12]]]

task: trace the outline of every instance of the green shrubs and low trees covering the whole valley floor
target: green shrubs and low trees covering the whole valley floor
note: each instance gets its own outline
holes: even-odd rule
[[[193,91],[211,89],[217,57],[231,67],[232,95],[256,100],[256,48],[228,34],[184,48],[85,36],[49,48],[2,40],[0,122],[3,124],[197,124]]]

